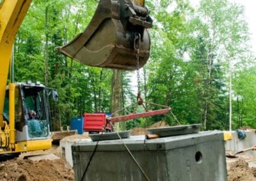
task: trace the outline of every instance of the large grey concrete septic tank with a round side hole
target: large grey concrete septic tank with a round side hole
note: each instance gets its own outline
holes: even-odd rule
[[[221,131],[123,140],[149,180],[227,180]],[[72,145],[75,179],[81,180],[95,142]],[[147,180],[120,140],[99,141],[83,180]]]

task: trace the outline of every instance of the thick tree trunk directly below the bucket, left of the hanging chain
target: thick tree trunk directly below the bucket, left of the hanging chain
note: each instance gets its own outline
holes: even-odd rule
[[[121,83],[121,71],[117,69],[113,69],[112,76],[112,88],[111,88],[111,113],[120,110],[121,105],[121,91],[122,91],[122,83]],[[114,116],[120,115],[120,113],[116,113]],[[115,131],[119,131],[118,122],[114,124]]]

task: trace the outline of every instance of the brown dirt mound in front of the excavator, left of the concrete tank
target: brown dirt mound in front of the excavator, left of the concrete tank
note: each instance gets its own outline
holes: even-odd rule
[[[1,180],[74,180],[74,171],[67,169],[65,161],[13,159],[0,163]]]

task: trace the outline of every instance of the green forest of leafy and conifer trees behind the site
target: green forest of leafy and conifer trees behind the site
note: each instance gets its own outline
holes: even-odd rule
[[[170,106],[181,124],[225,130],[231,118],[233,129],[256,127],[256,61],[244,7],[202,0],[195,8],[191,1],[146,1],[154,27],[148,29],[150,59],[140,69],[143,98]],[[84,66],[55,50],[84,31],[98,3],[34,0],[17,35],[15,81],[40,81],[58,90],[52,130],[85,112],[113,112],[136,101],[134,72]],[[159,120],[177,125],[168,114],[124,122],[120,129]]]

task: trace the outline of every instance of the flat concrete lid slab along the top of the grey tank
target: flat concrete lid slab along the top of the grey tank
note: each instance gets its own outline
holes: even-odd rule
[[[203,131],[195,134],[185,134],[180,136],[170,136],[146,140],[144,135],[131,136],[123,139],[124,143],[132,150],[172,150],[173,148],[189,147],[211,141],[223,141],[222,131]],[[92,152],[97,141],[86,141],[74,143],[73,152]],[[121,140],[99,141],[98,151],[123,151],[126,150]]]

